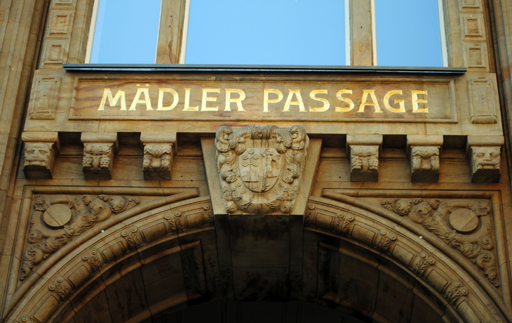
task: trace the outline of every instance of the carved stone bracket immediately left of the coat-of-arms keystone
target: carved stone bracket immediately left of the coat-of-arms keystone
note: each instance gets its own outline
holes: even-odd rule
[[[144,179],[170,180],[177,150],[176,133],[141,133],[140,142],[144,146]]]

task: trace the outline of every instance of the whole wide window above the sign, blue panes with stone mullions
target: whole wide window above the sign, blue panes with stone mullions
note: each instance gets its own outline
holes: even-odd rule
[[[447,66],[442,0],[95,0],[95,6],[86,62]]]

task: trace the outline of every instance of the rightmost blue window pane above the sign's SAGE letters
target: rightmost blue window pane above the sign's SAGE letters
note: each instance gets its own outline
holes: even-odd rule
[[[377,65],[442,67],[438,0],[375,0]]]

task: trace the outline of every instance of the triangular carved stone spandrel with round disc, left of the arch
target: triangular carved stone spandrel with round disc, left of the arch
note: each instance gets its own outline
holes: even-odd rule
[[[30,221],[28,245],[21,265],[20,280],[34,266],[50,257],[74,237],[118,213],[139,204],[136,197],[83,195],[37,196]],[[92,252],[92,251],[91,251]]]

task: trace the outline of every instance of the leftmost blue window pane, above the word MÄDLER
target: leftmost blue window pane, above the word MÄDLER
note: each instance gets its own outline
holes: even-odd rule
[[[100,0],[91,63],[153,64],[161,0]]]

